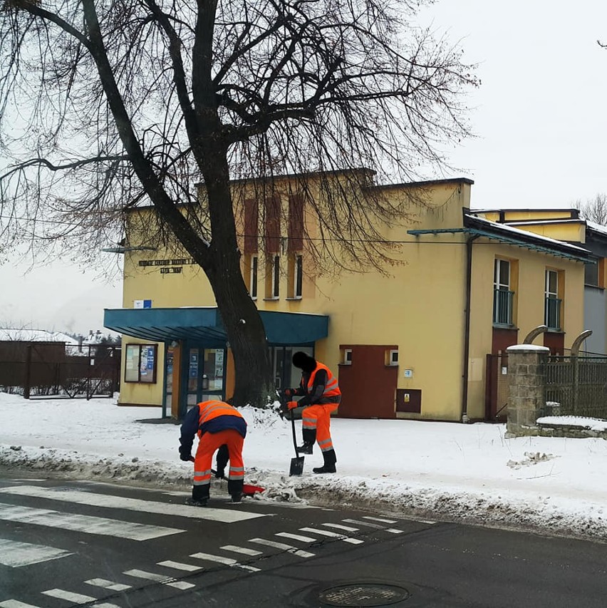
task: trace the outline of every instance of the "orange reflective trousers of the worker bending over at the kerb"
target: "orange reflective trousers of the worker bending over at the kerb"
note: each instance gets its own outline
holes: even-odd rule
[[[199,491],[201,496],[208,495],[209,492],[213,454],[224,444],[227,445],[229,453],[228,492],[242,491],[242,483],[244,482],[244,462],[242,461],[244,437],[233,428],[227,428],[225,431],[219,431],[219,433],[204,433],[198,442],[194,458],[194,486],[204,486]]]

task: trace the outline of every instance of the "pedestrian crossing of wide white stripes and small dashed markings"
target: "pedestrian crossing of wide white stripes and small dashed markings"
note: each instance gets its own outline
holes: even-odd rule
[[[31,480],[30,480],[31,481]],[[31,507],[1,502],[2,497],[8,500],[17,498],[48,500],[54,508]],[[125,541],[136,543],[148,542],[172,537],[186,532],[192,526],[192,520],[211,520],[217,524],[231,525],[238,522],[247,522],[256,518],[269,518],[272,521],[274,513],[249,511],[244,505],[238,509],[204,508],[188,505],[175,505],[157,502],[150,496],[150,500],[128,498],[108,493],[95,493],[94,491],[74,490],[72,488],[49,488],[45,485],[12,485],[0,488],[0,522],[18,522],[26,527],[54,528],[78,532],[86,538],[84,545],[94,542],[96,535],[119,537]],[[45,503],[46,504],[46,503]],[[61,506],[70,505],[68,510],[62,511]],[[83,515],[73,512],[79,506],[102,507],[107,512],[99,515]],[[241,508],[244,507],[244,508]],[[136,520],[136,513],[170,516],[172,525],[150,525],[138,521],[126,521],[111,515],[120,512],[122,517]],[[130,514],[130,517],[129,517]],[[44,598],[53,598],[53,607],[76,606],[86,604],[94,608],[125,608],[130,605],[128,594],[134,589],[146,585],[170,587],[174,592],[188,592],[197,587],[197,577],[204,575],[205,571],[218,568],[236,568],[255,574],[261,572],[263,559],[279,553],[291,555],[294,560],[310,560],[322,551],[323,545],[331,542],[346,543],[353,547],[367,542],[367,535],[383,530],[391,534],[400,534],[404,530],[392,527],[398,520],[388,517],[361,516],[360,519],[341,519],[339,521],[323,521],[323,510],[318,510],[313,517],[313,524],[298,527],[293,530],[276,530],[271,525],[257,525],[257,535],[243,537],[239,545],[225,544],[217,548],[205,545],[205,550],[196,552],[183,551],[181,555],[161,555],[163,550],[171,552],[165,545],[155,545],[153,561],[150,562],[149,552],[142,553],[145,563],[131,564],[115,570],[111,579],[107,572],[103,576],[95,576],[80,581],[66,576],[64,580],[70,581],[69,588],[60,585],[50,589],[41,589],[39,601],[31,602],[31,594],[27,598],[6,597],[0,589],[0,608],[44,608],[48,605]],[[328,517],[328,515],[327,515]],[[333,517],[334,519],[334,517]],[[159,520],[164,523],[164,521]],[[177,523],[177,527],[175,527]],[[180,525],[182,524],[182,525]],[[194,523],[195,525],[195,523]],[[265,535],[260,531],[268,530]],[[73,547],[51,546],[61,545],[60,542],[50,544],[36,544],[1,537],[0,529],[0,567],[11,569],[27,569],[43,562],[61,560],[66,562],[68,568],[78,559],[78,552]],[[88,538],[90,537],[90,540]],[[61,538],[61,535],[58,536]],[[31,539],[30,539],[31,540]],[[165,543],[166,544],[166,543]],[[175,547],[175,545],[171,545]],[[160,549],[158,548],[160,547]],[[168,545],[167,545],[168,547]],[[185,549],[185,546],[184,546]],[[175,549],[172,550],[175,554]],[[137,554],[135,554],[137,555]],[[99,573],[101,574],[101,572]],[[84,577],[83,577],[84,578]],[[61,583],[57,579],[56,583]]]

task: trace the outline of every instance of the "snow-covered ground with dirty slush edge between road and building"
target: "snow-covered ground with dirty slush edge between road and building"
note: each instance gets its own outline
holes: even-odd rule
[[[259,500],[308,500],[395,514],[607,540],[607,441],[504,438],[499,424],[348,420],[331,422],[334,475],[289,477],[291,423],[244,408],[246,483]],[[0,465],[36,476],[191,487],[179,459],[180,427],[160,408],[123,408],[113,399],[26,401],[0,393]],[[301,422],[296,423],[301,443]],[[212,494],[227,493],[214,480]],[[247,498],[246,500],[254,500]]]

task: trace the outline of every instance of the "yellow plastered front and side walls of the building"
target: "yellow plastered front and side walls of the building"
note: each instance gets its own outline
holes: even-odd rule
[[[284,193],[288,190],[285,187]],[[383,192],[388,197],[397,197],[406,192],[406,187],[387,187]],[[427,195],[425,205],[411,205],[411,217],[405,225],[385,230],[386,238],[403,242],[399,254],[402,264],[387,268],[386,275],[370,271],[342,272],[337,277],[331,274],[317,276],[317,268],[306,256],[301,300],[286,299],[286,273],[281,276],[281,297],[266,300],[264,258],[260,254],[256,304],[261,310],[328,315],[329,335],[316,344],[316,356],[335,371],[341,361],[340,344],[397,344],[398,388],[422,391],[421,415],[399,416],[457,421],[462,412],[464,371],[466,235],[444,233],[415,237],[408,235],[407,231],[461,228],[462,208],[470,205],[470,185],[465,182],[437,182],[423,187],[422,192]],[[286,205],[286,200],[282,200],[282,204]],[[313,236],[316,227],[310,217],[306,221],[308,233]],[[286,226],[282,227],[282,232],[286,235]],[[544,321],[546,267],[564,272],[565,346],[569,346],[583,329],[581,262],[477,239],[473,246],[472,314],[467,361],[470,418],[484,416],[485,357],[492,345],[493,264],[496,256],[518,260],[516,321],[520,339]],[[142,260],[172,257],[175,254],[168,256],[164,252],[131,252],[125,256],[125,308],[132,308],[135,299],[152,299],[155,308],[214,306],[209,284],[197,266],[183,264],[180,273],[161,274],[158,266],[139,264]],[[168,267],[172,266],[177,264],[169,264]],[[162,351],[161,345],[159,365],[161,361],[163,363]],[[405,369],[413,370],[413,378],[404,377]],[[123,383],[121,401],[160,404],[160,379],[153,388]],[[369,381],[373,382],[373,378]]]

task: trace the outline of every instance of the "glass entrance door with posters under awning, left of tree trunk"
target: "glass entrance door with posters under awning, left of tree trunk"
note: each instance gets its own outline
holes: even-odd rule
[[[187,352],[187,408],[201,401],[224,399],[225,351],[191,346]]]

